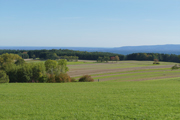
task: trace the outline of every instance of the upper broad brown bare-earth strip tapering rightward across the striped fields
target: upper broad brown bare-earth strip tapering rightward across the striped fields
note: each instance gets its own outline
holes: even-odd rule
[[[112,64],[112,63],[109,63]],[[70,69],[68,74],[71,77],[77,77],[82,75],[92,75],[92,74],[102,74],[102,73],[112,73],[112,72],[125,72],[133,70],[147,70],[147,69],[158,69],[158,68],[171,68],[172,65],[157,65],[157,66],[143,66],[143,67],[131,67],[131,68],[116,68],[116,69],[104,69],[101,67],[96,67],[98,64],[81,64],[81,65],[69,65],[69,67],[75,67]],[[100,65],[107,65],[107,63],[102,63]],[[77,66],[77,67],[76,67]],[[79,67],[81,66],[81,67]],[[83,66],[83,68],[82,68]],[[78,68],[79,67],[79,68]]]

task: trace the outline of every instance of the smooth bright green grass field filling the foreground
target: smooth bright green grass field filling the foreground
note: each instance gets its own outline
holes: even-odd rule
[[[0,84],[0,119],[180,119],[180,78]]]

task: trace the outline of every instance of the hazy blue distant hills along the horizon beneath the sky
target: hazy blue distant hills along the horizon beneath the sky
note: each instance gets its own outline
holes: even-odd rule
[[[111,52],[118,54],[131,54],[131,53],[164,53],[164,54],[180,54],[180,44],[167,44],[167,45],[144,45],[144,46],[124,46],[116,48],[100,48],[100,47],[18,47],[18,46],[0,46],[0,49],[11,50],[41,50],[41,49],[70,49],[87,52]]]

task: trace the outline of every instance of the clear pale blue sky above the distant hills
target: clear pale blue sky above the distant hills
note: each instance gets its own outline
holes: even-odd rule
[[[0,46],[180,44],[180,0],[0,0]]]

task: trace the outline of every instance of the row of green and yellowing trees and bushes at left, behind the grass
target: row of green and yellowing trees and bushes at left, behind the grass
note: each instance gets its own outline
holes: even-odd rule
[[[68,70],[65,59],[26,63],[15,54],[0,56],[0,82],[75,82],[76,80],[66,73]],[[91,78],[88,75],[86,77],[84,79],[88,80],[84,81]]]

